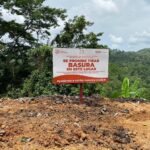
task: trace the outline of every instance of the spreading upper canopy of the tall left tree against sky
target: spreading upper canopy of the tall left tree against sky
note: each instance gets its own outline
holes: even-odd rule
[[[65,10],[49,8],[43,5],[44,0],[2,0],[0,8],[12,15],[22,16],[23,22],[7,21],[0,14],[0,42],[11,50],[26,49],[39,43],[39,39],[50,36],[50,28],[59,26],[58,19],[65,19]],[[6,42],[2,39],[8,35]],[[9,41],[9,42],[8,42]]]

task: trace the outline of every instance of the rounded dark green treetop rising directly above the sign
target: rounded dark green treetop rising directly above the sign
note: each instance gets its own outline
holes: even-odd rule
[[[103,33],[87,33],[87,28],[93,23],[85,19],[84,16],[76,16],[74,19],[65,22],[64,29],[52,41],[52,45],[57,47],[77,47],[77,48],[102,48],[99,44]]]

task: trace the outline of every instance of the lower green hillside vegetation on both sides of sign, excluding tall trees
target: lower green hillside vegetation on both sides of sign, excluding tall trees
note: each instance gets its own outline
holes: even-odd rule
[[[51,51],[52,48],[49,46],[33,49],[30,53],[29,63],[26,66],[26,69],[28,70],[26,76],[23,74],[24,76],[21,77],[21,72],[26,71],[25,68],[20,68],[20,74],[18,74],[18,77],[16,76],[15,81],[13,81],[12,77],[8,76],[8,74],[1,74],[1,96],[19,97],[52,94],[78,94],[78,85],[68,84],[56,86],[51,83]],[[43,52],[44,55],[41,54]],[[40,55],[40,60],[38,60],[36,53]],[[123,79],[128,77],[131,85],[135,81],[139,81],[138,89],[143,89],[139,98],[150,99],[149,65],[150,49],[143,49],[138,52],[110,50],[109,82],[105,84],[85,84],[85,95],[101,94],[102,96],[111,98],[121,97]]]

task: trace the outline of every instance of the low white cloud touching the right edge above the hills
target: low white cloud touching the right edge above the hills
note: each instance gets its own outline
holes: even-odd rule
[[[129,37],[130,44],[150,44],[150,31],[136,32]]]

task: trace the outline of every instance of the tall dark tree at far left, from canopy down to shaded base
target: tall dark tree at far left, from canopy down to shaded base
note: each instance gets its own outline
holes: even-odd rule
[[[17,87],[31,73],[28,51],[47,40],[50,29],[66,17],[65,10],[45,6],[44,1],[0,0],[0,92],[8,85]],[[4,18],[3,10],[14,19]]]

